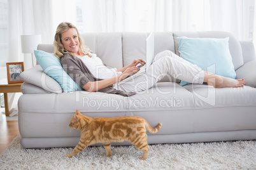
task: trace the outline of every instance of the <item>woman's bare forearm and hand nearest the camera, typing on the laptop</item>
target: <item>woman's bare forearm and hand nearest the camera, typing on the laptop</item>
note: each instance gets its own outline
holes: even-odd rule
[[[89,81],[85,85],[83,85],[83,89],[89,92],[98,91],[99,89],[104,89],[108,86],[115,84],[116,82],[122,81],[129,75],[136,73],[138,71],[139,71],[139,68],[133,66],[128,69],[125,69],[124,72],[122,72],[122,74],[117,75],[115,77],[111,77],[110,79],[105,79],[102,81],[94,81],[94,82]]]

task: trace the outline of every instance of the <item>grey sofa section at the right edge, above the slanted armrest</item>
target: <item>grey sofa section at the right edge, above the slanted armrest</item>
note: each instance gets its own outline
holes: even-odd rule
[[[252,41],[240,41],[242,52],[243,52],[243,62],[247,63],[256,60],[255,49]]]

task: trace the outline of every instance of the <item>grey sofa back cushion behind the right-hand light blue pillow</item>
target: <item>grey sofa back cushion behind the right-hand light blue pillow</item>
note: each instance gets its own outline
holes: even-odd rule
[[[225,38],[229,37],[229,51],[232,56],[234,69],[243,65],[243,53],[240,42],[230,32],[203,31],[203,32],[173,32],[174,46],[176,55],[180,55],[178,48],[178,37],[186,36],[188,38]]]

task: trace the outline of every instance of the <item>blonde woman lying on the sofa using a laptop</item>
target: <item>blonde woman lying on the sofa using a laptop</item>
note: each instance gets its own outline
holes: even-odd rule
[[[215,88],[238,88],[245,84],[243,79],[230,79],[205,72],[171,51],[163,51],[155,56],[147,73],[135,77],[131,82],[118,84],[129,75],[138,72],[139,68],[136,65],[145,65],[145,61],[134,60],[121,69],[108,69],[101,59],[83,46],[78,30],[68,22],[60,23],[57,27],[54,45],[55,56],[61,59],[62,67],[86,91],[106,92],[104,89],[110,87],[125,93],[145,91],[165,75],[178,76],[182,81],[196,84],[206,82]]]

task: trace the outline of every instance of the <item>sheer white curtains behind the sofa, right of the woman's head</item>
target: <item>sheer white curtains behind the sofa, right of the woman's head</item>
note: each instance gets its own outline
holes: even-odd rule
[[[252,41],[254,0],[85,0],[82,32],[223,30]]]

